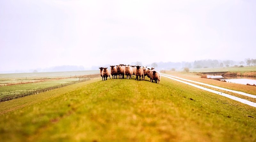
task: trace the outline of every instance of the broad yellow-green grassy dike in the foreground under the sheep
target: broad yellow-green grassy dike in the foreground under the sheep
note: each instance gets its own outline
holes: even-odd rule
[[[256,140],[256,108],[164,77],[62,89],[2,113],[1,141]],[[8,106],[0,103],[1,111]]]

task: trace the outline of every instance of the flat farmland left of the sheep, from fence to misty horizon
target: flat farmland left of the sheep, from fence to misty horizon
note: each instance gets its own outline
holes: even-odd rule
[[[95,73],[96,71],[66,71],[0,74],[0,84],[2,84],[2,86],[0,86],[0,97],[12,96],[13,94],[25,93],[27,91],[77,81],[79,80],[77,77],[80,76],[81,78],[88,76],[91,78],[98,77],[99,75],[91,75]]]

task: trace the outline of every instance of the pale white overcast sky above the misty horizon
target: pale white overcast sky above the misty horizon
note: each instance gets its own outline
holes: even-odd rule
[[[1,0],[0,71],[256,58],[254,0]]]

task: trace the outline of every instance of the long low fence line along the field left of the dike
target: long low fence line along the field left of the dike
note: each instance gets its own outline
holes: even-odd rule
[[[62,87],[77,84],[77,83],[80,83],[80,82],[88,81],[90,79],[92,79],[92,78],[90,78],[90,77],[89,78],[83,78],[83,79],[79,79],[78,81],[71,81],[71,82],[68,82],[68,83],[63,83],[63,84],[59,84],[59,85],[55,85],[55,86],[51,86],[51,87],[46,87],[46,88],[41,88],[41,89],[34,89],[32,91],[13,94],[13,96],[10,96],[10,95],[9,96],[4,96],[4,97],[0,96],[0,102],[10,101],[10,100],[13,100],[13,99],[22,98],[22,97],[29,96],[29,95],[34,95],[34,94],[47,92],[47,91],[50,91],[50,90],[53,90],[53,89],[62,88]]]

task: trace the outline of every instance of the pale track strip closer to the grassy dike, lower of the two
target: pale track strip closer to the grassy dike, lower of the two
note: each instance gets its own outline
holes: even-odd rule
[[[202,86],[199,86],[199,85],[195,85],[195,84],[192,84],[192,83],[189,83],[189,82],[186,82],[186,81],[182,81],[182,80],[179,80],[179,79],[176,79],[176,78],[172,78],[172,77],[169,77],[169,75],[165,75],[163,73],[161,73],[161,75],[163,77],[170,78],[170,79],[173,79],[173,80],[185,83],[185,84],[190,85],[190,86],[194,86],[196,88],[199,88],[199,89],[202,89],[202,90],[205,90],[205,91],[209,91],[209,92],[216,93],[216,94],[219,94],[219,95],[224,96],[224,97],[228,97],[228,98],[230,98],[232,100],[239,101],[239,102],[247,104],[249,106],[256,107],[256,103],[255,102],[248,101],[248,100],[245,100],[245,99],[241,99],[241,98],[238,98],[236,96],[232,96],[232,95],[229,95],[229,94],[226,94],[226,93],[215,91],[215,90],[212,90],[212,89],[209,89],[209,88],[205,88],[205,87],[202,87]]]

